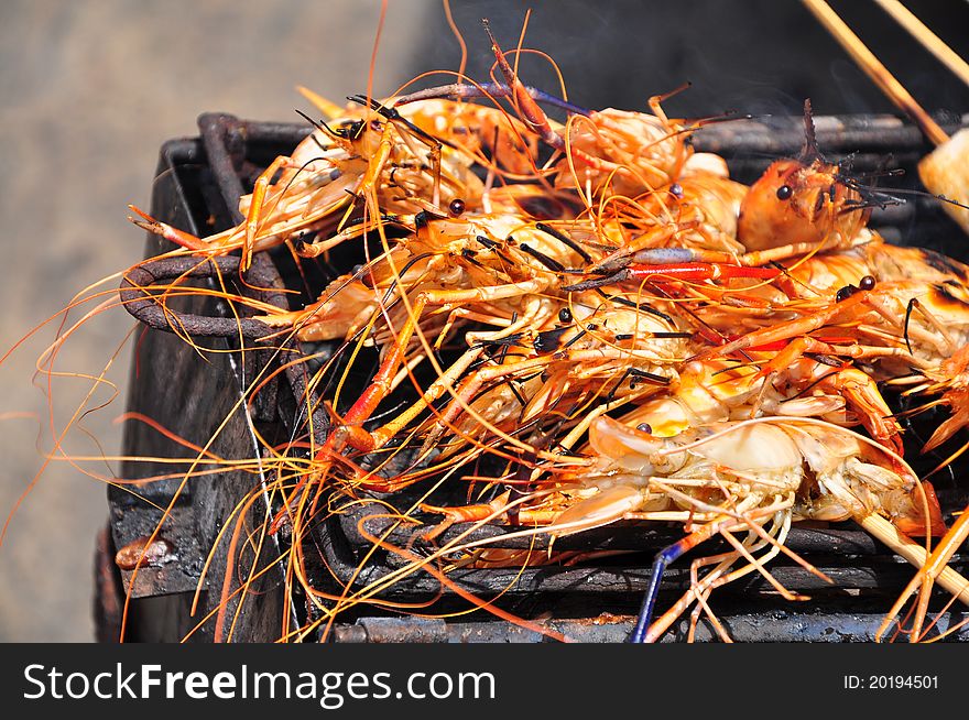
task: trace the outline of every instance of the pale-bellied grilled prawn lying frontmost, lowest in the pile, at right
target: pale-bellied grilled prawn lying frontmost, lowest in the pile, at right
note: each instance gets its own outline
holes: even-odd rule
[[[715,423],[658,438],[600,417],[590,427],[589,446],[595,460],[577,491],[586,497],[559,514],[548,532],[566,534],[621,519],[678,519],[690,528],[656,557],[633,631],[638,642],[658,639],[690,604],[706,607],[715,587],[749,572],[761,572],[786,592],[763,565],[782,552],[792,522],[853,519],[916,566],[926,554],[905,533],[925,534],[941,523],[934,495],[913,474],[890,469],[884,451],[861,436],[819,421]],[[736,532],[745,537],[734,537]],[[695,576],[698,567],[714,567],[652,623],[665,567],[718,534],[733,552],[695,565]],[[738,561],[743,564],[737,567]],[[941,582],[958,591],[966,580],[949,569]]]

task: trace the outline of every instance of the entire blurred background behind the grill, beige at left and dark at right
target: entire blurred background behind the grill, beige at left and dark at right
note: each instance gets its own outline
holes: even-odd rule
[[[969,112],[969,89],[873,2],[831,4],[927,109]],[[969,3],[906,6],[969,56],[961,31]],[[818,114],[894,112],[796,0],[455,0],[470,76],[487,79],[492,61],[481,18],[508,50],[529,8],[524,45],[555,58],[569,98],[585,107],[642,110],[651,95],[690,81],[664,105],[669,114],[798,114],[805,97]],[[294,108],[308,108],[296,85],[334,100],[364,91],[379,15],[377,0],[3,0],[0,352],[75,293],[141,258],[144,237],[126,220],[126,205],[149,206],[163,141],[196,134],[195,118],[205,111],[297,122]],[[429,69],[457,70],[459,61],[439,0],[391,0],[373,92],[391,94]],[[526,56],[520,73],[529,85],[558,92],[547,61]],[[105,288],[116,286],[112,279]],[[110,310],[70,335],[55,370],[75,377],[56,381],[48,406],[34,363],[59,321],[0,364],[0,519],[12,512],[0,546],[0,641],[94,639],[92,561],[107,516],[105,486],[64,459],[45,466],[44,456],[54,447],[52,418],[56,437],[90,390],[78,375],[101,372],[113,384],[101,383],[86,407],[119,396],[76,418],[63,447],[75,456],[119,452],[112,419],[124,410],[124,339],[133,323]],[[99,466],[106,477],[116,470],[113,462]]]

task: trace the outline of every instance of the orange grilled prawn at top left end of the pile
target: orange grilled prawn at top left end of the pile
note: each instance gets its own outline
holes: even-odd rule
[[[364,98],[357,100],[366,103]],[[428,102],[439,109],[442,101]],[[466,111],[457,103],[450,109],[455,122],[448,128],[457,133]],[[371,222],[381,214],[413,215],[428,208],[447,215],[455,201],[478,207],[483,184],[471,171],[472,152],[438,140],[409,114],[426,124],[421,103],[399,111],[377,101],[369,108],[350,106],[329,122],[317,123],[291,155],[266,167],[252,194],[240,198],[246,219],[235,228],[197,238],[134,207],[141,219],[132,221],[196,253],[226,254],[242,248],[244,269],[253,252],[284,242],[302,247],[314,232],[327,237],[326,249],[372,229],[364,222],[357,231],[338,232],[361,203],[372,200]]]

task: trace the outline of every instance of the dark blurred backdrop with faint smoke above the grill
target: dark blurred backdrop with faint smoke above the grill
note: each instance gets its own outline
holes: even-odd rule
[[[926,108],[969,110],[969,89],[955,80],[939,81],[947,70],[874,3],[842,0],[832,6]],[[969,3],[945,6],[908,3],[944,35],[969,23]],[[819,114],[895,111],[798,2],[454,0],[454,18],[468,43],[469,75],[487,79],[493,62],[481,18],[489,19],[508,51],[518,43],[529,8],[525,46],[556,61],[569,98],[584,107],[644,110],[651,95],[690,81],[690,89],[664,106],[671,114],[703,117],[727,109],[799,114],[806,97]],[[444,13],[438,15],[417,43],[414,74],[431,67],[457,69],[457,42]],[[969,56],[969,35],[950,33],[946,40]],[[527,85],[558,94],[558,81],[544,61],[522,57],[520,75]]]

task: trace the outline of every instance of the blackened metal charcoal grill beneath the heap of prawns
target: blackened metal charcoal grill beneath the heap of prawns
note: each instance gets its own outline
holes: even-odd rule
[[[955,131],[969,122],[965,118],[940,116],[947,129]],[[851,155],[854,172],[865,173],[901,167],[906,171],[904,183],[915,186],[914,166],[930,150],[919,132],[911,124],[891,116],[817,117],[817,137],[826,155],[840,160]],[[263,167],[279,154],[288,154],[309,131],[297,124],[266,123],[240,120],[226,114],[204,114],[199,118],[197,138],[166,142],[154,182],[151,212],[154,217],[196,234],[208,234],[239,221],[236,210],[238,198],[251,190],[251,184]],[[717,152],[727,159],[732,176],[744,182],[754,179],[771,160],[796,153],[803,142],[799,118],[769,118],[739,120],[704,129],[694,139],[698,150]],[[875,209],[871,225],[889,241],[933,248],[960,260],[969,260],[969,242],[959,229],[927,198],[916,198],[903,205]],[[149,236],[145,257],[154,257],[168,249],[155,236]],[[346,272],[360,261],[352,250],[341,251],[330,262]],[[138,271],[135,284],[146,285],[153,279],[174,277],[188,265],[178,261],[163,261]],[[213,266],[194,271],[193,282],[211,283]],[[286,307],[315,299],[314,290],[333,274],[325,265],[307,265],[307,279],[301,277],[283,249],[255,257],[248,275],[251,285],[265,288],[253,291],[238,283],[238,259],[218,260],[218,271],[236,291],[252,294],[259,299]],[[301,291],[284,294],[288,287]],[[297,345],[281,350],[253,350],[251,338],[266,334],[265,326],[246,318],[237,307],[229,312],[224,303],[203,297],[178,298],[170,304],[178,313],[182,331],[197,338],[199,345],[224,352],[208,353],[203,359],[172,331],[171,313],[145,299],[139,291],[127,288],[129,309],[145,324],[138,340],[137,358],[132,366],[128,411],[152,417],[178,436],[198,445],[208,446],[222,458],[252,458],[260,451],[255,433],[270,441],[285,440],[306,425],[305,402],[297,399],[306,391],[305,366],[292,366],[264,388],[251,404],[243,399],[243,388],[269,369],[285,366],[306,349]],[[237,318],[237,315],[241,319]],[[239,352],[244,343],[244,356]],[[366,382],[366,379],[360,379]],[[219,427],[225,418],[228,422]],[[932,422],[932,418],[928,418]],[[320,412],[313,426],[325,432],[327,418]],[[216,430],[218,433],[216,434]],[[917,428],[908,434],[913,439],[911,457],[917,457]],[[124,456],[175,457],[193,459],[197,452],[181,446],[148,425],[129,422],[123,438]],[[933,458],[925,460],[932,467]],[[220,471],[184,483],[178,472],[185,466],[162,462],[133,462],[122,466],[122,477],[148,479],[166,473],[174,477],[127,487],[109,488],[110,533],[100,554],[99,588],[102,602],[100,636],[117,637],[119,614],[118,592],[130,593],[126,640],[178,641],[188,635],[190,641],[213,640],[213,623],[199,621],[214,611],[226,583],[226,568],[233,570],[228,581],[237,587],[239,577],[252,570],[252,560],[244,554],[229,563],[226,538],[216,543],[219,531],[236,503],[254,482],[265,483],[269,478],[254,477],[241,471]],[[969,501],[969,492],[955,480],[940,478],[936,483],[940,501],[948,511],[958,510]],[[456,502],[460,498],[455,499]],[[374,514],[377,505],[358,505],[351,512],[320,522],[313,532],[307,547],[317,554],[311,558],[316,572],[314,582],[322,590],[335,590],[333,577],[358,587],[379,579],[399,565],[393,556],[375,553],[359,569],[360,559],[371,549],[361,535],[388,530]],[[113,548],[123,547],[138,537],[150,535],[168,509],[160,535],[174,545],[174,559],[160,567],[144,567],[132,578],[131,571],[118,571],[110,564]],[[948,519],[950,520],[950,517]],[[456,525],[439,542],[464,533],[466,526]],[[421,541],[409,533],[393,530],[390,538],[399,545],[411,544],[421,549]],[[494,536],[508,533],[507,527],[486,526],[473,536]],[[633,554],[577,567],[534,567],[519,569],[466,569],[449,577],[459,586],[479,597],[497,597],[497,603],[520,617],[538,619],[570,637],[589,642],[621,641],[629,633],[633,615],[645,591],[650,565],[656,549],[677,537],[674,530],[629,523],[600,528],[556,541],[556,549],[636,550]],[[271,538],[275,556],[285,549],[284,534]],[[507,541],[510,547],[533,547],[541,550],[547,541]],[[777,559],[772,572],[788,589],[810,594],[808,603],[794,604],[776,597],[760,577],[722,588],[712,598],[731,635],[739,641],[870,641],[884,611],[897,592],[912,577],[912,568],[850,523],[830,527],[795,527],[788,546],[809,559],[831,577],[834,587],[793,563]],[[216,549],[209,570],[200,586],[195,615],[189,610],[209,549]],[[272,557],[272,552],[263,553]],[[965,570],[965,557],[957,556],[955,565]],[[296,626],[313,618],[313,609],[305,598],[287,596],[284,591],[285,568],[279,561],[260,560],[255,568],[258,581],[252,586],[254,597],[248,598],[235,623],[232,641],[273,641],[280,635],[284,618]],[[688,558],[667,570],[661,588],[661,606],[677,596],[688,585]],[[115,577],[111,577],[111,574]],[[120,572],[120,575],[119,575]],[[469,606],[455,593],[442,589],[429,575],[415,574],[394,583],[380,596],[394,602],[434,600],[425,612],[445,613],[466,610]],[[945,598],[938,598],[940,606]],[[238,598],[229,602],[228,617],[236,614]],[[105,610],[108,608],[109,610]],[[936,628],[937,632],[969,618],[961,609],[948,612]],[[684,637],[686,621],[675,625],[664,641]],[[190,634],[189,634],[190,633]],[[698,640],[714,637],[703,621]],[[318,639],[318,637],[317,637]],[[969,640],[969,629],[952,633],[949,640]],[[401,617],[380,610],[377,606],[356,606],[338,617],[327,634],[330,642],[536,642],[542,636],[482,611],[457,614],[449,620],[426,620]]]

